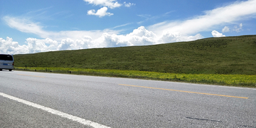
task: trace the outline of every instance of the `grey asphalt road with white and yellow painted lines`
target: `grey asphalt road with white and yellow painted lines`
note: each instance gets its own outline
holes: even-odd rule
[[[6,70],[0,127],[256,127],[256,90]]]

